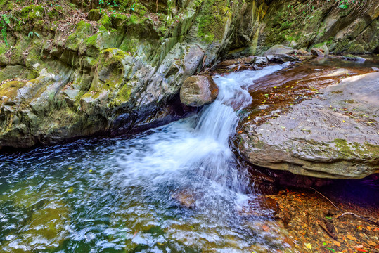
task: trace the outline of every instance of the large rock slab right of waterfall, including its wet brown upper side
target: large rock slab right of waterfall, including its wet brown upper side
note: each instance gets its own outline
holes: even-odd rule
[[[238,131],[240,154],[252,164],[320,178],[378,172],[379,74],[314,70],[293,82],[274,74],[278,86],[267,87],[266,79],[256,88],[265,91],[251,91],[263,101]],[[341,77],[347,78],[338,83]]]

